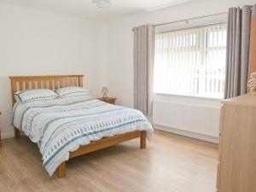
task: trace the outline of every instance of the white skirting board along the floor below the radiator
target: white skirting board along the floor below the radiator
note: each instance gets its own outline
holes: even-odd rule
[[[177,130],[177,129],[174,129],[171,127],[166,127],[166,126],[161,126],[161,125],[154,125],[154,129],[160,130],[160,131],[171,132],[171,133],[174,133],[174,134],[177,134],[180,136],[191,137],[191,138],[199,139],[202,141],[218,144],[218,137],[205,136],[202,134],[189,132],[189,131]]]

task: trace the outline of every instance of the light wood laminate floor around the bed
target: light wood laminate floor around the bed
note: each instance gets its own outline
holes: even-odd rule
[[[139,140],[67,162],[67,177],[49,177],[36,145],[26,137],[3,140],[0,191],[215,192],[218,148],[157,131],[148,148]]]

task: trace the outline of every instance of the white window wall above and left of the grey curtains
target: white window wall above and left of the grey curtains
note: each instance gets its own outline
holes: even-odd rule
[[[107,79],[111,94],[118,97],[118,103],[133,107],[133,26],[218,14],[227,12],[233,6],[253,3],[255,0],[197,0],[110,23]]]

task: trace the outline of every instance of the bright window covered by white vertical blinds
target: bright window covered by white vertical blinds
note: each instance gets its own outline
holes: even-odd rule
[[[224,24],[156,34],[154,92],[223,98],[225,55]]]

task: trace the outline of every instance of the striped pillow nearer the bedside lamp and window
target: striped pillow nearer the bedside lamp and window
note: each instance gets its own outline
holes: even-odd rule
[[[90,90],[86,90],[82,87],[64,87],[59,90],[55,90],[58,96],[88,96]]]

